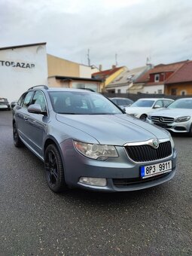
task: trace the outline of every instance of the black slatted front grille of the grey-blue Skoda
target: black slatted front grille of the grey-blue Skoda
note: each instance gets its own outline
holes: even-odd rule
[[[126,146],[126,152],[135,162],[146,162],[169,157],[172,154],[171,142],[162,142],[158,148],[150,145]]]

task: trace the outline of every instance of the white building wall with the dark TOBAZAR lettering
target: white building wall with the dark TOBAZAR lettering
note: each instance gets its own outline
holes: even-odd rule
[[[45,44],[0,50],[0,97],[11,102],[38,84],[47,84]]]

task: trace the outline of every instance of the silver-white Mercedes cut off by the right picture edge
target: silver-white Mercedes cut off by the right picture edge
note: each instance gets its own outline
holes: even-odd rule
[[[147,121],[174,133],[192,136],[192,98],[175,100],[167,108],[148,115]]]

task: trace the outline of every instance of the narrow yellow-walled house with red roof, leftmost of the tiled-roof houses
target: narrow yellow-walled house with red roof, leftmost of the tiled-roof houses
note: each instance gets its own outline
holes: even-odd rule
[[[105,92],[108,84],[111,83],[121,72],[126,70],[126,67],[112,66],[112,69],[103,70],[92,74],[92,78],[102,80],[101,92]]]

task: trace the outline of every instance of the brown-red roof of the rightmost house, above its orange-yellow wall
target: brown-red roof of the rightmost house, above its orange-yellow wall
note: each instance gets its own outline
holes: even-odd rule
[[[181,66],[180,69],[177,70],[174,74],[172,74],[167,80],[165,84],[175,84],[182,82],[191,82],[192,81],[192,61],[187,61]]]

